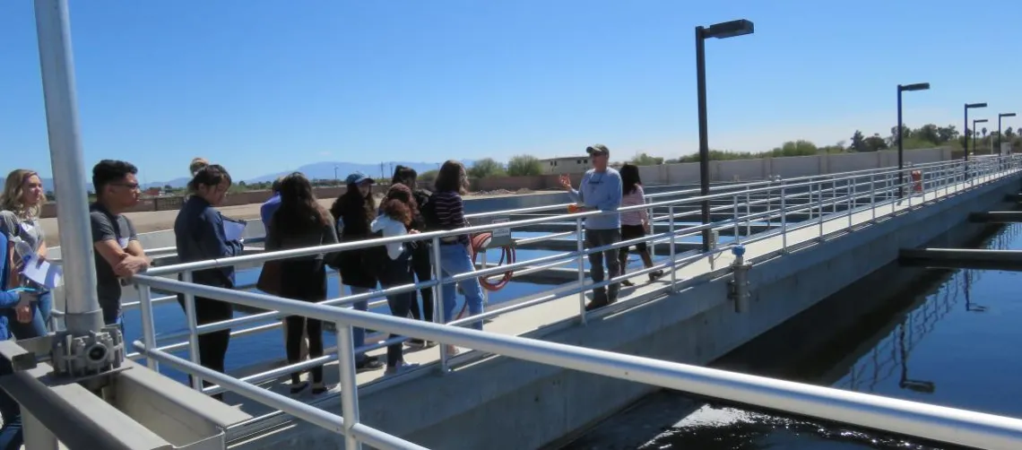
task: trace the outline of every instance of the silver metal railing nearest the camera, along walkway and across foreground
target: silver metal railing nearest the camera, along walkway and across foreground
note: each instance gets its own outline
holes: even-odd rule
[[[907,169],[907,171],[919,170],[923,172],[922,180],[919,182],[920,190],[918,191],[915,189],[915,185],[917,183],[914,182],[911,177],[905,177],[907,182],[903,185],[897,185],[896,181],[894,181],[896,180],[897,170],[868,171],[865,175],[854,173],[848,176],[835,175],[828,180],[808,180],[794,183],[789,182],[779,186],[732,185],[729,187],[734,189],[728,192],[652,202],[644,206],[622,208],[617,211],[626,212],[643,208],[666,208],[668,210],[666,219],[668,221],[669,230],[664,233],[653,233],[643,238],[631,239],[596,249],[579,248],[575,252],[545,256],[526,262],[518,262],[510,266],[493,268],[483,267],[472,272],[458,274],[452,277],[445,277],[440,279],[440,281],[437,281],[437,279],[440,278],[438,276],[439,268],[434,267],[434,270],[437,271],[437,273],[434,274],[433,280],[390,287],[359,296],[342,296],[338,299],[331,299],[320,304],[296,302],[262,294],[229,290],[194,284],[189,282],[190,274],[195,270],[203,270],[215,267],[226,267],[237,264],[254,264],[273,259],[343,252],[354,249],[364,249],[372,245],[381,245],[387,242],[407,242],[420,239],[431,240],[434,244],[433,252],[435,253],[438,251],[437,244],[440,237],[490,231],[496,228],[516,228],[549,222],[551,218],[527,219],[494,225],[478,225],[453,231],[436,231],[410,236],[344,242],[311,249],[286,250],[260,255],[226,258],[217,261],[185,263],[162,268],[154,268],[150,270],[149,273],[146,273],[145,275],[138,275],[134,278],[134,282],[138,285],[140,291],[140,309],[142,310],[143,329],[142,342],[136,342],[134,347],[139,351],[140,356],[147,359],[147,363],[150,367],[158,369],[158,364],[164,363],[192,374],[194,387],[196,389],[200,389],[199,378],[203,377],[220,385],[217,387],[206,388],[203,392],[212,394],[215,392],[221,392],[225,389],[237,392],[243,396],[252,398],[258,402],[273,406],[288,414],[295,415],[301,419],[335,432],[338,431],[337,423],[343,423],[342,432],[345,434],[349,444],[353,446],[357,445],[358,442],[367,442],[379,448],[417,448],[412,444],[404,442],[383,440],[383,437],[374,434],[379,432],[367,431],[361,428],[361,424],[358,423],[358,388],[355,386],[354,355],[359,352],[384,347],[393,343],[384,342],[354,349],[351,341],[351,330],[352,326],[358,326],[393,332],[402,336],[407,336],[400,338],[399,340],[419,338],[444,344],[461,345],[477,351],[553,364],[559,367],[573,368],[624,379],[635,379],[637,381],[647,382],[662,388],[679,389],[710,397],[749,403],[772,409],[781,409],[792,413],[885,430],[898,434],[918,436],[931,440],[962,445],[980,446],[984,448],[1020,448],[1019,446],[1022,446],[1022,421],[1013,418],[998,417],[949,408],[940,408],[856,393],[841,392],[827,388],[808,387],[788,381],[773,380],[750,375],[740,375],[701,367],[666,363],[646,358],[617,355],[609,352],[599,352],[541,341],[463,329],[458,326],[450,326],[475,322],[482,320],[483,318],[495,317],[513,310],[527,308],[573,294],[578,294],[578,318],[579,321],[585,323],[587,314],[592,314],[587,313],[584,308],[585,292],[594,287],[619,282],[622,279],[648,273],[652,270],[668,269],[671,275],[671,283],[665,289],[669,290],[677,285],[678,280],[675,277],[675,272],[678,268],[700,258],[704,258],[707,255],[725,252],[732,245],[749,243],[768,237],[781,235],[782,253],[786,253],[789,250],[786,239],[787,234],[796,229],[816,226],[820,232],[823,233],[824,222],[840,218],[841,214],[847,215],[848,227],[850,228],[854,225],[851,220],[852,214],[863,211],[866,208],[869,208],[873,212],[873,219],[894,214],[896,211],[895,204],[899,201],[896,194],[899,189],[904,190],[904,197],[901,198],[900,201],[907,202],[910,208],[913,208],[914,206],[920,207],[923,205],[925,198],[918,197],[924,193],[940,193],[941,191],[943,191],[943,193],[949,193],[953,188],[961,189],[983,184],[989,180],[997,179],[1002,176],[1018,172],[1019,162],[1020,160],[1018,158],[984,159],[969,163],[951,162],[925,166],[921,165]],[[776,198],[772,197],[772,194],[776,194]],[[752,199],[756,195],[759,196],[759,199]],[[761,198],[761,196],[766,196],[766,198]],[[677,209],[684,206],[699,205],[699,202],[708,199],[730,199],[732,202],[731,206],[715,208],[730,209],[732,211],[732,217],[728,220],[717,221],[710,224],[700,224],[686,227],[676,226],[677,224],[675,223],[675,218],[681,215],[691,214],[679,214],[677,213]],[[799,202],[793,205],[793,200],[798,200]],[[931,199],[930,201],[935,200],[936,199]],[[866,205],[867,201],[869,201],[869,205]],[[915,205],[913,205],[914,201]],[[755,205],[764,205],[765,208],[763,208],[763,211],[761,212],[753,213],[751,212],[751,207]],[[891,207],[890,212],[885,211],[888,205]],[[778,208],[774,209],[775,206]],[[745,207],[746,211],[741,211],[741,207]],[[827,211],[828,209],[830,209],[829,212]],[[787,220],[787,218],[792,214],[806,213],[809,217],[808,220],[800,222],[789,222]],[[576,227],[575,238],[580,239],[583,236],[583,220],[600,214],[616,213],[587,212],[561,215],[553,219],[558,221],[573,221]],[[740,228],[743,225],[748,228],[749,223],[764,220],[780,220],[781,226],[777,229],[751,236],[748,234],[743,236],[740,232]],[[735,242],[729,245],[711,249],[707,253],[688,252],[683,253],[682,255],[675,254],[675,243],[679,237],[695,235],[704,229],[723,228],[731,228],[736,231]],[[822,237],[822,234],[819,237]],[[509,269],[525,268],[529,263],[553,264],[562,261],[579,261],[591,253],[603,252],[605,250],[634,244],[641,241],[648,241],[652,243],[668,242],[671,249],[668,261],[657,264],[652,268],[632,272],[628,275],[615,277],[613,279],[607,279],[600,283],[570,283],[554,289],[549,295],[540,296],[529,302],[505,308],[498,308],[481,315],[471,316],[447,325],[393,318],[383,314],[363,313],[352,311],[350,309],[331,308],[332,306],[347,306],[355,301],[369,300],[374,297],[408,291],[421,287],[432,287],[435,289],[434,302],[438,303],[442,298],[440,292],[443,288],[445,288],[445,286],[440,283],[448,283],[471,277],[492,276],[498,273],[503,273]],[[582,270],[583,266],[579,264],[579,272]],[[177,273],[183,274],[184,281],[165,278],[165,276]],[[584,277],[580,276],[579,280],[583,279]],[[191,354],[191,361],[174,357],[168,353],[168,351],[171,350],[168,347],[180,348],[177,345],[167,347],[156,346],[150,301],[150,289],[152,288],[165,291],[182,292],[184,295],[186,299],[186,316],[189,328],[188,347]],[[236,318],[224,322],[197,325],[194,320],[193,299],[195,296],[201,296],[253,308],[263,308],[271,312]],[[624,302],[626,302],[626,300]],[[448,321],[448,318],[442,317],[443,309],[440,308],[440,305],[435,305],[434,311],[436,311],[436,319],[438,323]],[[314,361],[292,364],[268,372],[246,376],[241,379],[212,372],[201,368],[197,364],[196,336],[199,333],[227,329],[232,326],[250,323],[256,320],[266,320],[286,315],[301,315],[336,323],[336,332],[338,338],[336,352],[329,356],[317,358]],[[245,331],[258,332],[258,330],[262,329],[268,328],[266,325],[260,325],[236,332],[239,334]],[[440,346],[440,361],[438,367],[442,370],[447,370],[449,368],[449,356],[444,351],[445,346]],[[312,412],[310,414],[310,412],[306,409],[308,405],[290,401],[282,396],[253,386],[254,384],[275,378],[285,373],[308,369],[311,366],[324,364],[332,360],[337,360],[340,363],[341,403],[343,405],[343,417],[347,418],[346,421],[341,421],[340,417],[321,410],[319,410],[320,412]]]

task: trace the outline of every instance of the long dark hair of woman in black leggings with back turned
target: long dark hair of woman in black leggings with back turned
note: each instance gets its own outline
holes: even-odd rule
[[[275,233],[298,234],[331,225],[330,215],[316,200],[312,183],[294,172],[280,180],[280,208],[270,225]]]

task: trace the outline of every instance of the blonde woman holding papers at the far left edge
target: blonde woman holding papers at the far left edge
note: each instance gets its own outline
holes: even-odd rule
[[[39,223],[39,214],[46,202],[46,194],[43,188],[43,180],[34,171],[28,169],[15,169],[7,174],[4,182],[3,193],[0,194],[0,233],[3,233],[8,241],[14,243],[14,252],[9,263],[19,271],[25,260],[32,256],[46,258],[46,233]],[[9,284],[33,284],[31,280],[21,277],[20,280],[8,280]],[[6,288],[8,286],[0,286]],[[11,321],[11,330],[17,339],[36,338],[46,334],[46,326],[49,323],[50,311],[53,309],[53,296],[43,286],[33,285],[39,295],[39,300],[35,302],[34,311],[30,307],[33,316],[38,316],[39,320],[32,320],[28,323]],[[22,308],[25,306],[21,306]],[[26,311],[21,311],[22,316]]]

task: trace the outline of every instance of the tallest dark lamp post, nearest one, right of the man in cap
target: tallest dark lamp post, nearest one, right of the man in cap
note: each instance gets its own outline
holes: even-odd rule
[[[706,50],[705,41],[710,38],[725,39],[750,35],[754,32],[751,21],[746,19],[725,21],[709,27],[696,27],[696,90],[699,102],[699,194],[709,195],[709,138],[706,125]],[[709,200],[702,200],[702,223],[708,224]],[[709,252],[711,232],[703,230],[703,252]]]

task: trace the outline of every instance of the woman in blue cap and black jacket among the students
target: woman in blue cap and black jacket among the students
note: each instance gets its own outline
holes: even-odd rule
[[[337,221],[337,235],[341,242],[370,238],[372,231],[369,227],[376,218],[373,179],[366,174],[356,172],[349,175],[344,181],[347,190],[330,207],[330,214]],[[353,296],[376,290],[378,280],[367,264],[368,257],[368,249],[359,249],[341,252],[336,258],[336,265],[333,267],[340,273],[341,284],[347,286]],[[354,306],[359,311],[366,311],[369,309],[369,301],[356,302]],[[352,334],[355,348],[365,345],[365,329],[355,327]],[[383,363],[376,357],[367,356],[365,353],[356,354],[355,359],[356,367],[360,370],[383,367]]]

